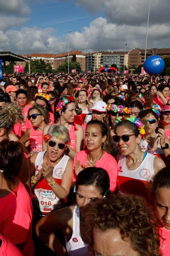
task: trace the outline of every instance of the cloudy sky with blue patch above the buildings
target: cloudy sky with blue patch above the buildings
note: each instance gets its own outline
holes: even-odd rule
[[[150,0],[148,48],[170,47],[170,1]],[[4,0],[0,51],[145,48],[149,0]]]

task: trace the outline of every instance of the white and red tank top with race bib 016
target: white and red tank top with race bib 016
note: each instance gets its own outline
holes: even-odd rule
[[[35,160],[35,174],[42,168],[43,157],[46,151],[39,152]],[[67,162],[70,159],[67,155],[63,155],[62,159],[56,164],[52,171],[52,176],[56,179],[58,184],[61,184],[62,176],[66,168]],[[55,208],[60,208],[59,198],[56,197],[51,187],[45,178],[41,179],[34,187],[34,203],[37,208],[43,213],[47,214]]]

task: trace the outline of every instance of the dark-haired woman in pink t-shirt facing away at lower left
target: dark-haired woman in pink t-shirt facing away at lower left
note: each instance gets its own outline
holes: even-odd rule
[[[0,234],[24,256],[33,256],[31,198],[17,178],[23,157],[19,142],[0,143]]]

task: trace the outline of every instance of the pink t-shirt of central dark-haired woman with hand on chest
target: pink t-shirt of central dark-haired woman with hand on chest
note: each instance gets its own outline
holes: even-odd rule
[[[80,161],[80,165],[82,165],[83,163],[87,163],[87,153],[88,153],[88,150],[82,150],[76,154],[76,156],[74,158],[74,163],[73,163],[72,181],[76,181],[76,177],[77,177],[76,173],[75,173],[75,164],[76,164],[77,160]],[[116,178],[118,175],[118,164],[117,164],[115,158],[112,157],[112,155],[104,152],[103,156],[96,162],[95,167],[100,167],[107,171],[108,176],[110,178],[110,190],[115,191]]]

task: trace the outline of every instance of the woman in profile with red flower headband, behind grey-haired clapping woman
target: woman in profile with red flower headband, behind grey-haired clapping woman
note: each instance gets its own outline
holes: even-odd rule
[[[54,107],[54,118],[57,125],[64,125],[70,135],[70,146],[67,148],[68,155],[74,159],[76,152],[83,149],[84,135],[83,128],[74,123],[74,118],[76,116],[76,105],[73,96],[62,97],[55,102]],[[43,135],[47,133],[48,125],[44,128]],[[46,150],[46,145],[43,142],[43,150]]]

